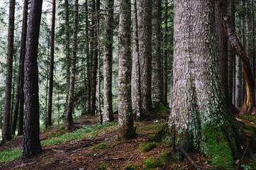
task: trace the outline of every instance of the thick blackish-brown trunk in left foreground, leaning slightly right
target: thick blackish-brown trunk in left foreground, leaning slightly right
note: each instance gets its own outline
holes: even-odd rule
[[[25,57],[26,116],[22,158],[42,152],[39,132],[38,38],[43,0],[34,0],[30,7]]]

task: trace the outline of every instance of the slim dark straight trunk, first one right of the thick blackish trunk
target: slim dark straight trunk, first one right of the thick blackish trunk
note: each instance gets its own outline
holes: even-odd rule
[[[52,0],[52,30],[50,39],[50,80],[49,80],[49,100],[47,125],[52,125],[52,89],[53,89],[53,69],[54,69],[54,37],[55,37],[55,0]]]

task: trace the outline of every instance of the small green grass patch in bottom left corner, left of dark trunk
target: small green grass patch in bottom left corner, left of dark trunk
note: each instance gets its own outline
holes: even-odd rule
[[[9,162],[21,157],[22,150],[17,148],[6,149],[0,154],[0,163],[8,164]]]

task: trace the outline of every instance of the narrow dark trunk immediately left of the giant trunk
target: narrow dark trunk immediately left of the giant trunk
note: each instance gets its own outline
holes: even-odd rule
[[[168,0],[165,0],[165,50],[164,50],[164,66],[163,66],[163,103],[165,106],[167,106],[167,93],[168,93],[168,86],[167,86],[167,81],[168,81],[168,64],[167,64],[167,59],[168,59]]]

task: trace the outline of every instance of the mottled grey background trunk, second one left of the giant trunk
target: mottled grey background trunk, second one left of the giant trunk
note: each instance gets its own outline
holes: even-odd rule
[[[162,102],[161,18],[162,0],[152,0],[152,103]]]

